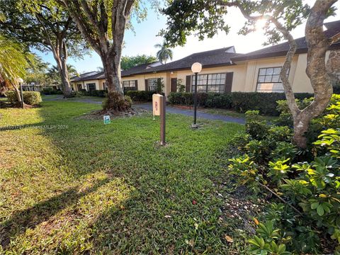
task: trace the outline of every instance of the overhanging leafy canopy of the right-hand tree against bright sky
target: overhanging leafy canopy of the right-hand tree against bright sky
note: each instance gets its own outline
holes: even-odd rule
[[[276,29],[270,18],[275,18],[288,30],[300,25],[310,12],[310,6],[303,4],[302,0],[261,0],[261,1],[227,1],[227,0],[174,0],[169,6],[161,10],[168,18],[167,28],[160,31],[168,45],[185,45],[188,35],[194,33],[199,40],[205,37],[212,38],[218,32],[229,33],[232,21],[228,22],[226,16],[230,8],[237,7],[244,16],[256,14],[259,18],[266,18],[263,27],[268,43],[276,43],[283,35]],[[257,19],[245,21],[244,27],[239,31],[246,35],[255,29]],[[229,24],[228,24],[229,23]]]

